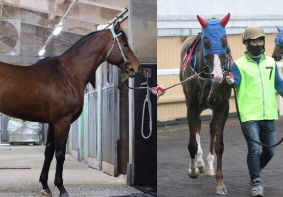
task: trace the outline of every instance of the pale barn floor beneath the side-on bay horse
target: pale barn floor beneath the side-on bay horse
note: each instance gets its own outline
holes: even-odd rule
[[[0,166],[29,166],[31,169],[0,169],[0,197],[42,196],[39,182],[45,146],[0,146]],[[59,195],[54,186],[55,158],[48,184],[53,196]],[[66,155],[63,171],[64,186],[71,197],[81,196],[151,196],[126,185],[126,177],[111,177],[89,168]],[[135,194],[135,195],[134,195]]]

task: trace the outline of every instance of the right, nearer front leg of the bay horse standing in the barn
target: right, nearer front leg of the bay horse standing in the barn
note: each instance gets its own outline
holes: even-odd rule
[[[54,123],[55,131],[55,157],[57,160],[56,173],[54,183],[58,187],[60,194],[59,197],[69,197],[68,192],[63,185],[63,164],[65,161],[66,144],[68,133],[71,125],[71,116],[65,117],[60,121]]]

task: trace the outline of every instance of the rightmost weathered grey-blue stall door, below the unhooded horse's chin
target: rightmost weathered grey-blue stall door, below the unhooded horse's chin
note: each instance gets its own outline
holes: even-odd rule
[[[117,176],[118,69],[105,63],[102,72],[102,171]]]

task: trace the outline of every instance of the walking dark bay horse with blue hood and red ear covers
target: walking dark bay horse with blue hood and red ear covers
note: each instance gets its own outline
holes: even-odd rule
[[[225,26],[230,13],[222,20],[212,18],[197,19],[202,26],[202,33],[189,39],[181,51],[181,68],[179,77],[184,80],[192,75],[199,75],[183,83],[183,92],[187,105],[187,120],[190,137],[188,149],[191,156],[188,175],[196,179],[205,171],[205,176],[214,176],[217,181],[216,194],[227,194],[223,183],[222,154],[224,150],[223,130],[229,111],[231,88],[225,78],[225,71],[231,66],[230,49],[227,43]],[[202,160],[200,146],[200,114],[205,109],[212,110],[210,123],[210,150],[208,165]],[[214,173],[214,150],[217,156],[217,170]]]

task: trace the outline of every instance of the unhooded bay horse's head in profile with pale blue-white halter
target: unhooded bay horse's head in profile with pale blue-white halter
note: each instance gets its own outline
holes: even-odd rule
[[[126,34],[121,31],[120,22],[114,25],[110,34],[113,37],[113,42],[109,46],[107,62],[124,70],[129,77],[135,77],[139,74],[141,65],[128,45]]]

